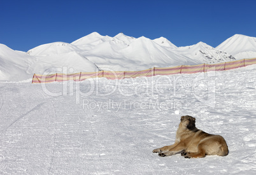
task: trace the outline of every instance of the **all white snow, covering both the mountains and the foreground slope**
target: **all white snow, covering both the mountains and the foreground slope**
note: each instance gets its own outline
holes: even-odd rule
[[[0,44],[0,174],[254,174],[256,66],[124,80],[31,84],[32,75],[141,71],[256,57],[236,34],[217,48],[93,32],[27,53]],[[180,116],[220,134],[227,157],[158,157]]]

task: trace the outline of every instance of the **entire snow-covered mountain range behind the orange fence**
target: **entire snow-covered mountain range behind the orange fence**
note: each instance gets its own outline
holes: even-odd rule
[[[0,45],[0,80],[26,80],[34,73],[55,73],[63,67],[68,73],[99,69],[141,71],[150,67],[214,64],[252,57],[256,57],[256,39],[238,34],[213,48],[203,42],[177,47],[164,37],[152,40],[123,33],[110,37],[92,32],[72,43],[48,43],[27,53]]]

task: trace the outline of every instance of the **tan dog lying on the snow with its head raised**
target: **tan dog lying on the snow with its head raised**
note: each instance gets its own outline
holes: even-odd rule
[[[160,157],[181,153],[185,158],[203,158],[206,155],[226,156],[229,149],[224,137],[208,134],[196,128],[196,118],[181,116],[173,145],[153,150]]]

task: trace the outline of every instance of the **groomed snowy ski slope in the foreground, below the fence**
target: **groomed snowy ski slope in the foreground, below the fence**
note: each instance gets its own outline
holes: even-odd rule
[[[0,83],[0,174],[254,174],[255,80],[256,66],[248,66],[80,84]],[[152,153],[174,143],[181,115],[222,135],[229,155]]]

